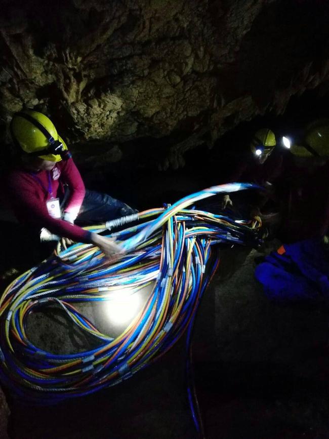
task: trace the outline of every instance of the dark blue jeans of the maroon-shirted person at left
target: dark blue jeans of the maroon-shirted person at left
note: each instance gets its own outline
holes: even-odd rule
[[[106,193],[86,190],[83,204],[74,222],[77,225],[101,224],[137,212],[136,209],[131,208],[118,199],[112,198]]]

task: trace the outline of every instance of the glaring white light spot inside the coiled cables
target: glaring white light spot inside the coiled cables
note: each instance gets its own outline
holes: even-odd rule
[[[112,325],[129,325],[141,308],[139,293],[133,293],[131,288],[125,288],[111,293],[111,300],[103,302],[104,309]]]

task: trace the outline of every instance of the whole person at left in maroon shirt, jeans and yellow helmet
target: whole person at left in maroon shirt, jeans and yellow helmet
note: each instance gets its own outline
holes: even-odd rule
[[[1,188],[18,221],[43,229],[44,235],[94,244],[115,259],[121,249],[113,240],[74,222],[104,222],[137,211],[109,195],[86,191],[64,140],[45,114],[15,113],[10,131],[17,161]]]

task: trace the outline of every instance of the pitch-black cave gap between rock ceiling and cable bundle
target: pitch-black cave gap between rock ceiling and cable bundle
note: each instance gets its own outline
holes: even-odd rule
[[[266,112],[251,121],[241,122],[225,133],[209,149],[203,142],[184,155],[185,166],[173,170],[158,170],[161,148],[168,149],[169,139],[146,138],[129,142],[131,158],[97,168],[93,171],[83,164],[89,187],[105,191],[139,210],[174,203],[182,196],[209,186],[224,183],[234,160],[248,151],[250,141],[260,128],[270,128],[278,141],[283,135],[300,135],[305,126],[316,119],[329,117],[328,94],[324,86],[293,96],[281,115]],[[140,148],[143,154],[140,156]],[[78,156],[76,157],[79,161]],[[88,183],[87,183],[88,184]]]

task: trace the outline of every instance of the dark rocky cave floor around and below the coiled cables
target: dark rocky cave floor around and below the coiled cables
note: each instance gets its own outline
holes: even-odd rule
[[[254,279],[259,251],[224,249],[198,311],[196,390],[209,439],[328,437],[328,317],[323,303],[278,305]],[[4,284],[5,281],[3,280]],[[86,343],[58,313],[36,313],[28,331],[41,347]],[[32,407],[6,392],[15,439],[197,437],[187,403],[184,340],[130,380],[95,395]]]

